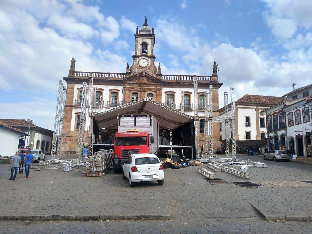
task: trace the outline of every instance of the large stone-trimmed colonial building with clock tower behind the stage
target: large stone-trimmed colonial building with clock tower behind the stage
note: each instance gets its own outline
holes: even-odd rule
[[[83,82],[89,83],[89,76],[93,76],[93,86],[96,87],[96,112],[103,112],[112,107],[147,98],[194,116],[194,98],[196,98],[199,144],[204,143],[204,94],[208,91],[209,85],[213,87],[212,112],[214,116],[219,115],[218,90],[222,83],[218,81],[217,64],[212,65],[211,76],[164,75],[161,73],[160,64],[155,64],[154,27],[149,28],[146,17],[142,29],[136,28],[134,39],[133,63],[125,64],[125,73],[76,71],[76,60],[73,58],[71,61],[68,77],[63,78],[67,83],[67,90],[62,154],[76,154]],[[194,80],[197,80],[197,93],[194,93]],[[107,141],[108,135],[101,133],[99,139],[101,142]],[[215,147],[220,144],[218,123],[213,123],[213,139]]]

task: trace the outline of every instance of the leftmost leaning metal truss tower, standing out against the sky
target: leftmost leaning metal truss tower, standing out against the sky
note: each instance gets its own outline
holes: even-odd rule
[[[62,130],[63,130],[63,118],[64,118],[64,106],[65,106],[65,93],[66,89],[63,86],[63,81],[60,80],[56,101],[56,113],[54,121],[51,160],[60,159],[61,157],[61,144],[62,144]]]

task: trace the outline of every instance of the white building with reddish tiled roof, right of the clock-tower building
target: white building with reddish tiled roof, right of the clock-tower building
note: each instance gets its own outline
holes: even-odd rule
[[[283,97],[246,94],[235,101],[236,145],[241,148],[265,146],[266,114],[265,109],[286,101]],[[228,107],[231,112],[231,106]],[[224,116],[224,107],[220,109]],[[220,123],[220,139],[225,139],[225,123]]]

